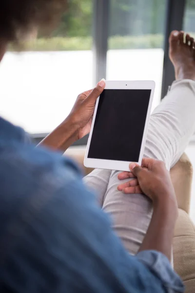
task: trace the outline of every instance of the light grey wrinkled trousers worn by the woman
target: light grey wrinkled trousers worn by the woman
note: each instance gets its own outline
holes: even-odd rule
[[[144,156],[164,161],[170,170],[194,132],[195,82],[176,81],[151,115]],[[84,182],[98,193],[100,205],[113,218],[113,229],[126,249],[136,254],[151,221],[152,205],[143,194],[125,195],[118,191],[117,186],[122,183],[117,179],[118,173],[96,169]]]

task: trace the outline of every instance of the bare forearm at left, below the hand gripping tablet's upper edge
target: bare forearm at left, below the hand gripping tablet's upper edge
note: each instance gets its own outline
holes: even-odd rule
[[[77,140],[77,127],[71,120],[66,119],[39,146],[47,146],[53,150],[65,152]]]

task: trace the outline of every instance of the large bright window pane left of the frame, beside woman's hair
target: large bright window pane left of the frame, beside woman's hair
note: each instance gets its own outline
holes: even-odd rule
[[[47,133],[69,114],[78,94],[92,87],[93,0],[70,1],[49,39],[26,52],[8,52],[0,65],[0,115],[30,133]]]

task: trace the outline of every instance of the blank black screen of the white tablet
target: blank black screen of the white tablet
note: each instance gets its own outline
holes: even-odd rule
[[[88,158],[138,162],[150,95],[150,89],[103,91]]]

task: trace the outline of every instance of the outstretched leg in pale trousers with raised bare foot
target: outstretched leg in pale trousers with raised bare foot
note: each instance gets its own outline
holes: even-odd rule
[[[182,33],[179,37],[183,38]],[[177,73],[177,78],[183,80],[178,80],[172,85],[167,97],[151,116],[144,153],[145,157],[164,161],[168,169],[176,164],[195,132],[194,61],[192,68],[194,52],[183,42],[178,45],[178,39],[174,38],[172,35],[170,39],[171,54],[179,55],[180,67],[176,61],[177,56],[171,57],[172,61],[175,59],[173,63],[176,71],[180,72]],[[178,50],[177,47],[179,47]],[[149,199],[142,194],[127,195],[117,191],[117,186],[121,184],[117,179],[118,173],[112,171],[103,209],[111,214],[113,228],[122,239],[126,249],[135,254],[148,229],[152,216],[152,205]]]

